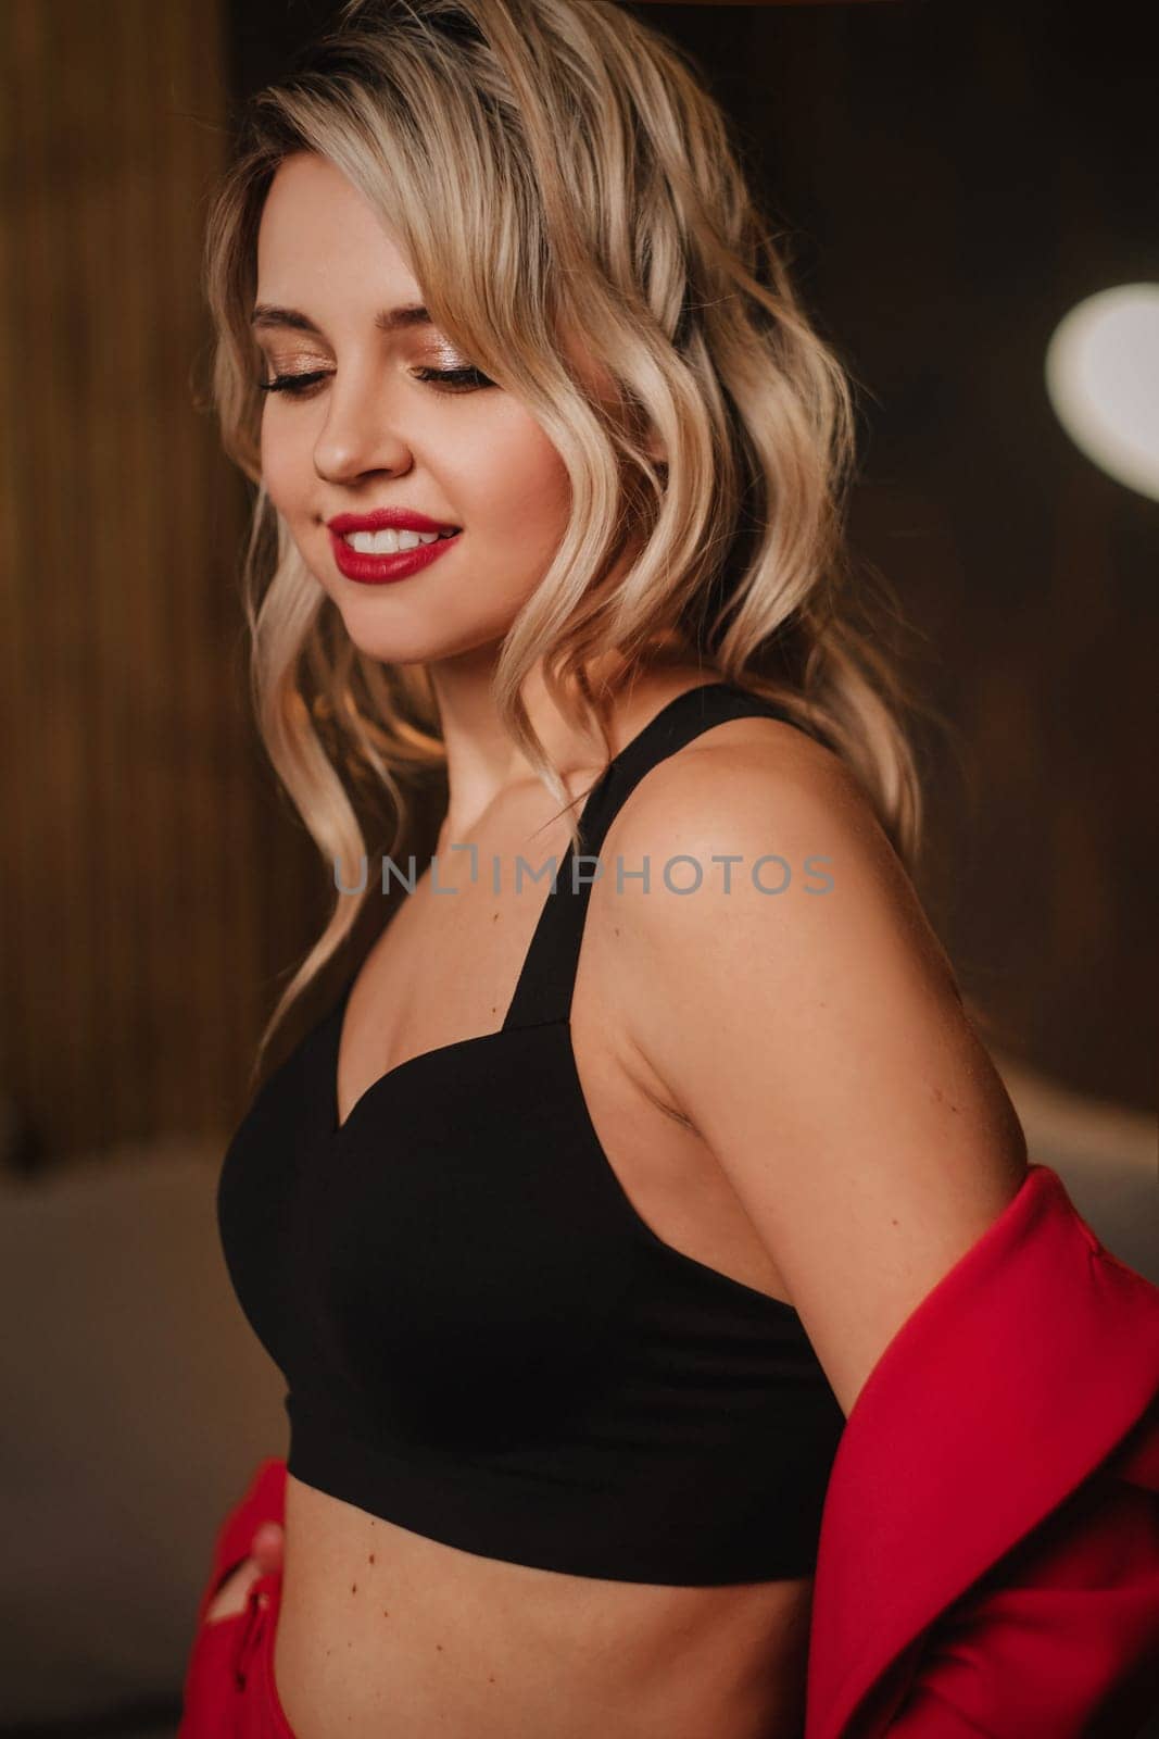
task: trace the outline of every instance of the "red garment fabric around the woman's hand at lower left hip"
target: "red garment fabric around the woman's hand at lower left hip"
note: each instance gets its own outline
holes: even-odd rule
[[[198,1602],[177,1739],[294,1739],[273,1680],[281,1574],[259,1576],[243,1612],[205,1621],[219,1584],[248,1558],[257,1525],[281,1522],[283,1513],[285,1461],[269,1456],[217,1530],[214,1565]]]

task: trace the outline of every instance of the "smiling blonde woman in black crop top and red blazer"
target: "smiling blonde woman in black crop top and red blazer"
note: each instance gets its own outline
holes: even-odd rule
[[[209,296],[259,718],[342,889],[341,772],[386,790],[408,892],[222,1169],[292,1433],[184,1739],[1121,1722],[1159,1299],[1027,1165],[912,892],[848,393],[719,111],[608,0],[363,0],[248,127]]]

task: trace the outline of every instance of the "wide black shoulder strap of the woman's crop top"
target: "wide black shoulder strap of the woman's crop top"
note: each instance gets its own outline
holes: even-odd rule
[[[547,892],[504,1029],[568,1019],[593,880],[613,873],[613,866],[598,863],[599,850],[643,776],[712,725],[751,716],[796,725],[775,703],[733,683],[709,682],[678,694],[613,756],[584,800],[579,819],[582,850],[577,857],[568,843],[560,861],[556,889]]]

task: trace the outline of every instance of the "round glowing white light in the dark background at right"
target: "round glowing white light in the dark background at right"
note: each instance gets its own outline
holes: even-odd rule
[[[1100,290],[1055,329],[1046,391],[1070,440],[1159,501],[1159,283]]]

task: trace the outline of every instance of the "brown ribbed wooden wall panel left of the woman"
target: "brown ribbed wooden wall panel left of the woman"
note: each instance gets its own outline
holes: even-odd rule
[[[0,1090],[50,1155],[231,1123],[318,890],[248,723],[243,487],[193,407],[210,0],[5,0]]]

